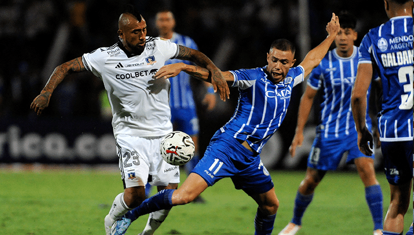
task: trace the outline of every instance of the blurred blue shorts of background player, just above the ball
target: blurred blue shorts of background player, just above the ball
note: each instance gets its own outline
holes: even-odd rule
[[[171,122],[174,130],[180,130],[189,135],[197,135],[199,132],[197,111],[194,108],[171,107]]]

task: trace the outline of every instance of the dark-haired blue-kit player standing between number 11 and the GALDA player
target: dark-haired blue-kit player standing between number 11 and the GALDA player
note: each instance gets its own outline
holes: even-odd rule
[[[329,51],[312,70],[299,106],[295,135],[289,148],[292,157],[296,147],[303,143],[303,131],[314,97],[321,90],[320,124],[316,128],[306,175],[296,193],[293,217],[279,235],[296,234],[302,227],[302,218],[313,199],[316,186],[327,171],[338,168],[345,152],[348,153],[347,163],[356,165],[364,184],[366,202],[374,221],[374,234],[381,234],[382,192],[375,176],[374,156],[359,151],[351,111],[351,91],[358,65],[358,48],[354,45],[357,39],[356,18],[349,12],[341,12],[338,17],[341,29],[335,38],[336,48]],[[370,118],[367,119],[371,124]]]

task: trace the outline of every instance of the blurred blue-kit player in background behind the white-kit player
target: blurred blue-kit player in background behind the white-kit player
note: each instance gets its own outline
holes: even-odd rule
[[[189,36],[185,36],[174,32],[175,18],[173,13],[168,9],[159,10],[155,17],[155,26],[160,37],[169,39],[179,45],[187,46],[188,48],[198,50],[197,44]],[[172,63],[186,63],[191,64],[188,60],[170,59],[165,64]],[[195,146],[195,153],[193,158],[184,165],[184,170],[187,174],[193,170],[199,160],[198,152],[198,116],[196,110],[196,103],[193,98],[193,90],[190,84],[190,75],[181,72],[177,76],[169,79],[170,87],[170,108],[171,108],[171,122],[173,130],[183,131],[191,136]],[[214,94],[213,86],[210,83],[204,82],[208,88],[203,102],[207,105],[208,110],[214,108],[216,103],[216,96]],[[149,176],[147,185],[145,186],[145,194],[150,197],[152,186],[150,184],[152,176]],[[194,202],[203,203],[201,196],[197,197]],[[167,217],[169,210],[159,210],[149,215],[147,225],[141,235],[152,235],[156,228]]]

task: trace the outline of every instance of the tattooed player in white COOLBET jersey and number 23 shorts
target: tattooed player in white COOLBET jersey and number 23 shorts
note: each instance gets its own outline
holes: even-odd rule
[[[105,217],[105,231],[110,234],[114,222],[146,198],[148,174],[159,189],[176,189],[179,169],[168,165],[159,153],[159,141],[172,131],[168,103],[170,83],[152,76],[171,58],[191,60],[214,74],[215,89],[221,99],[229,89],[220,70],[199,51],[167,39],[147,37],[145,19],[133,6],[121,14],[119,41],[109,48],[99,48],[56,67],[40,95],[31,104],[39,115],[48,106],[56,86],[71,73],[92,72],[101,78],[112,109],[113,133],[117,142],[119,167],[124,192],[113,201]]]

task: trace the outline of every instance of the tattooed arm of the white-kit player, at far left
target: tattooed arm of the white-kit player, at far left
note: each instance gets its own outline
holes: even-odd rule
[[[40,115],[42,110],[49,105],[50,97],[52,96],[53,91],[56,89],[56,86],[62,82],[62,80],[72,73],[78,73],[86,71],[85,66],[82,62],[82,57],[78,57],[71,61],[67,61],[55,68],[52,75],[49,78],[49,81],[46,83],[40,95],[38,95],[30,105],[37,115]]]

